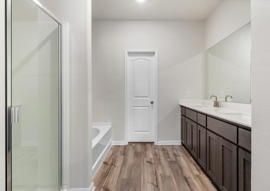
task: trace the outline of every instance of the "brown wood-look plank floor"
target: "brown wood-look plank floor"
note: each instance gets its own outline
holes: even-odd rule
[[[93,181],[95,191],[217,190],[181,145],[113,145]]]

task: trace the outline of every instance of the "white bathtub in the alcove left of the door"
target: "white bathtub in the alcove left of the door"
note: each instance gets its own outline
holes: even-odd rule
[[[112,123],[92,123],[92,178],[112,146]]]

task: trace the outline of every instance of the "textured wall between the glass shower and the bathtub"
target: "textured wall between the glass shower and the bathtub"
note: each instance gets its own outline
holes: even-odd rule
[[[40,0],[69,23],[69,188],[92,183],[91,0]]]

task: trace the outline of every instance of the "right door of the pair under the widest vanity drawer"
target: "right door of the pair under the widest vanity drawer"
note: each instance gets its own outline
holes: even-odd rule
[[[219,138],[220,190],[237,190],[237,146]]]

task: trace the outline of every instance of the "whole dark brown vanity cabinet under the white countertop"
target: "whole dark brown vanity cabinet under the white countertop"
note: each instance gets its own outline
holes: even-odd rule
[[[251,190],[251,129],[181,107],[181,141],[220,190]]]

